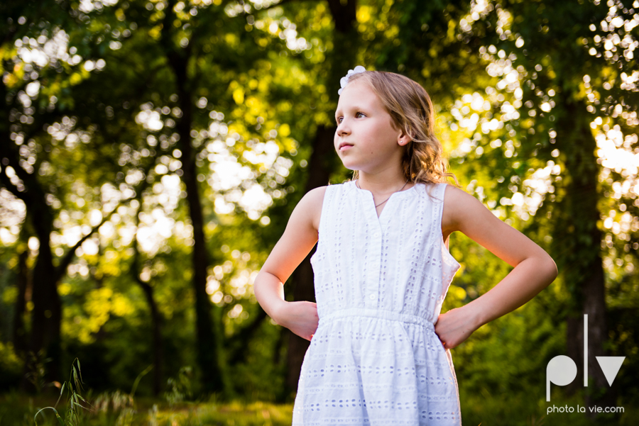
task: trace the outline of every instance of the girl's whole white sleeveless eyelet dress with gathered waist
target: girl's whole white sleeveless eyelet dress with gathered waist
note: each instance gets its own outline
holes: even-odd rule
[[[327,186],[311,258],[320,323],[293,426],[461,425],[452,357],[434,327],[460,267],[442,240],[445,186],[396,192],[379,218],[354,181]]]

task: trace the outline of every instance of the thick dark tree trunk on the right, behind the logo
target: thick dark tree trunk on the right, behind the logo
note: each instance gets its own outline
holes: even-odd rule
[[[567,87],[567,85],[564,85]],[[566,171],[563,199],[558,211],[554,242],[561,245],[559,264],[564,269],[567,288],[572,293],[568,313],[567,347],[569,356],[583,372],[584,314],[588,315],[588,376],[586,405],[613,406],[614,392],[603,375],[596,357],[607,356],[606,299],[601,259],[601,230],[597,201],[599,167],[596,162],[596,140],[590,128],[586,105],[574,101],[573,94],[562,94],[565,116],[557,123],[557,148],[565,156]],[[575,381],[579,381],[579,376]],[[581,375],[581,386],[584,386]],[[578,386],[573,385],[574,390]]]

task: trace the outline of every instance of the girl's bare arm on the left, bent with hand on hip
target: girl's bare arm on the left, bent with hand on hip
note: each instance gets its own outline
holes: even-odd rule
[[[325,191],[325,186],[313,189],[297,203],[282,237],[253,284],[258,302],[275,323],[307,340],[319,320],[315,303],[285,301],[284,283],[317,242]]]

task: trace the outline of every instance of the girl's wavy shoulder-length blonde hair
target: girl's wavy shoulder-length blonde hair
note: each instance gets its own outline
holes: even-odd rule
[[[366,71],[349,77],[349,84],[368,83],[391,115],[395,128],[410,137],[402,159],[404,177],[415,184],[438,184],[457,177],[447,172],[442,143],[435,136],[435,111],[426,90],[408,77],[394,72]],[[355,171],[353,179],[359,172]]]

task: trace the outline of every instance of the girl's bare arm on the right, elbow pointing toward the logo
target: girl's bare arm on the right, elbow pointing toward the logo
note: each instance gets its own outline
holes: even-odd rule
[[[557,277],[555,262],[535,242],[496,218],[474,196],[447,186],[442,232],[449,235],[457,230],[514,268],[481,297],[444,314],[452,314],[446,320],[440,315],[443,321],[441,325],[437,321],[436,332],[447,349],[466,340],[481,325],[530,301]]]

